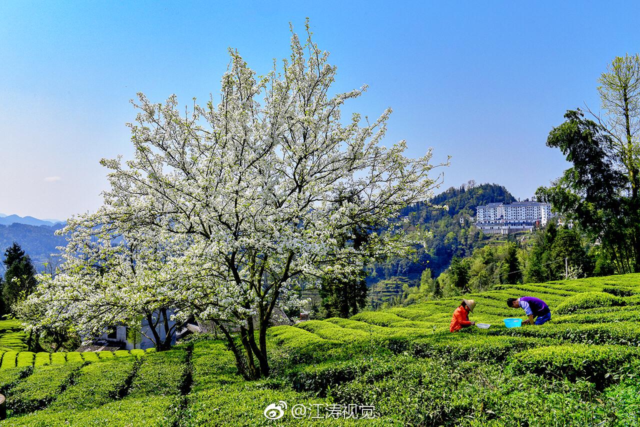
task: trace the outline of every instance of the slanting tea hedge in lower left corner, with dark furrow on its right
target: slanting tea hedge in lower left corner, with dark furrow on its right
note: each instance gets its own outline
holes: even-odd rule
[[[79,364],[42,366],[13,387],[7,407],[22,414],[46,407],[70,383]]]

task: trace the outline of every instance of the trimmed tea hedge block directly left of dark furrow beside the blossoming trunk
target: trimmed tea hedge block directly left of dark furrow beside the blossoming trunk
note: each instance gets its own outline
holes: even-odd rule
[[[145,355],[131,384],[130,396],[179,394],[186,379],[187,352],[159,351]]]

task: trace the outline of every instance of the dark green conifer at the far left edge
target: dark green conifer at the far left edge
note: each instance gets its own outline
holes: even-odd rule
[[[2,300],[4,309],[12,312],[13,305],[31,294],[36,287],[36,270],[29,255],[20,245],[13,245],[4,251],[4,283]]]

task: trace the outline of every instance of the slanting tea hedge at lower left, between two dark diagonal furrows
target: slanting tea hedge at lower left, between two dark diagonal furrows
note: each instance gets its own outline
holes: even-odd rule
[[[104,405],[124,395],[134,374],[136,359],[118,357],[82,367],[68,387],[49,407],[54,410],[86,409]]]

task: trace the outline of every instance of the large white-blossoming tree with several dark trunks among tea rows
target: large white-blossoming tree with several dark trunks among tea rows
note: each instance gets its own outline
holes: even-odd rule
[[[390,109],[343,120],[342,104],[366,88],[332,95],[336,68],[307,34],[292,34],[291,57],[265,76],[230,51],[217,104],[194,100],[185,113],[175,95],[138,95],[135,157],[102,160],[104,205],[65,227],[61,272],[24,303],[44,307],[33,325],[95,334],[171,309],[213,321],[241,373],[260,378],[269,320],[301,305],[296,286],[407,250],[397,215],[431,197],[431,149],[412,159],[404,141],[383,147]],[[395,230],[345,245],[361,225]]]

